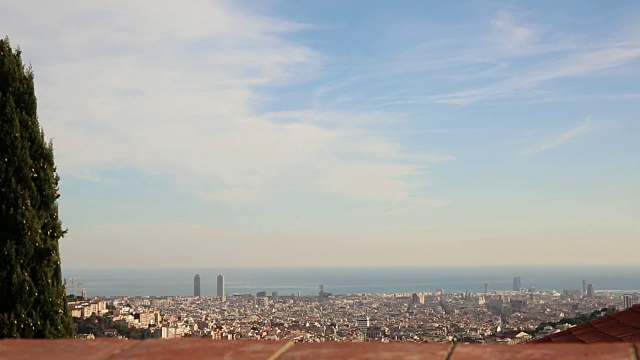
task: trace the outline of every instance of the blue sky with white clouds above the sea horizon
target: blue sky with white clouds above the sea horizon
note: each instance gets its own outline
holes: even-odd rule
[[[6,1],[63,267],[636,264],[638,1]]]

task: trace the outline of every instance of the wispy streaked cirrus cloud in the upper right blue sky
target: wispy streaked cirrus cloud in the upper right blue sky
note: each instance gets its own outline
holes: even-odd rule
[[[558,82],[615,77],[625,69],[637,73],[633,71],[640,62],[637,30],[621,24],[617,31],[585,36],[557,27],[528,21],[526,13],[497,11],[484,22],[468,25],[467,37],[429,36],[377,69],[349,81],[324,84],[318,92],[339,90],[349,94],[350,103],[376,98],[371,106],[381,108],[547,103],[579,95],[575,88],[555,86]],[[356,87],[358,92],[353,91]],[[612,99],[612,94],[606,98]]]

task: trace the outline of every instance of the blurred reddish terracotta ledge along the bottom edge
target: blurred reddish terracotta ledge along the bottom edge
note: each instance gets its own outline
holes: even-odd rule
[[[0,359],[607,359],[638,360],[640,343],[419,344],[292,343],[258,340],[0,340]]]

